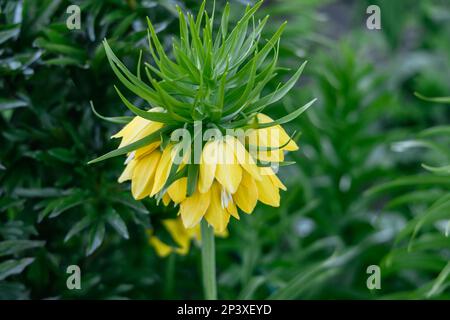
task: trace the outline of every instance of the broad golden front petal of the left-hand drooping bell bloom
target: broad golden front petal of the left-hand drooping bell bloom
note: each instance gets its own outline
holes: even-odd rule
[[[136,200],[145,198],[150,194],[160,157],[161,153],[154,151],[148,156],[136,160],[137,163],[131,181],[131,193]]]

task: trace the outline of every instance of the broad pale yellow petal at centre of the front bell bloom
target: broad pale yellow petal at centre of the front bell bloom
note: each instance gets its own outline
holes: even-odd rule
[[[242,168],[237,163],[233,149],[228,147],[225,141],[218,142],[218,160],[216,179],[226,191],[236,192],[242,179]]]

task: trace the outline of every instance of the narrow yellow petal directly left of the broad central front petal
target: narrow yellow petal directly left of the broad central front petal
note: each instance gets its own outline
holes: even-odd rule
[[[214,181],[218,162],[218,141],[205,144],[200,158],[198,189],[201,193],[208,192]]]

